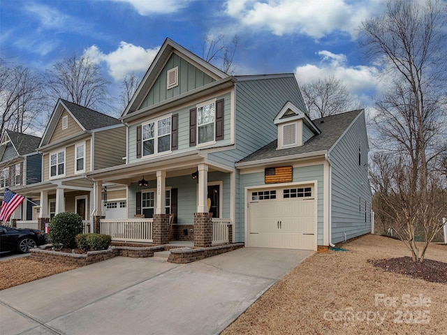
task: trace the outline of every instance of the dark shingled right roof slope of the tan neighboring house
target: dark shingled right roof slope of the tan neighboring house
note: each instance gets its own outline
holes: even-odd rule
[[[80,122],[80,124],[82,124],[82,126],[87,131],[107,126],[113,126],[115,124],[121,124],[121,121],[119,121],[119,119],[115,119],[115,117],[110,117],[106,114],[96,112],[96,110],[91,110],[90,108],[83,107],[81,105],[71,103],[63,99],[61,99],[61,102],[66,105],[71,114],[73,114],[73,116],[78,120],[78,122]]]

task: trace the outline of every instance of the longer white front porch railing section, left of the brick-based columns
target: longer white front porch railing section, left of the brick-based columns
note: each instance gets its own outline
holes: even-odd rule
[[[153,218],[102,219],[101,234],[108,234],[112,241],[152,242]]]

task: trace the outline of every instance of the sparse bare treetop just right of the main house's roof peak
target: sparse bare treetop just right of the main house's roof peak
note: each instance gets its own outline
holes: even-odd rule
[[[233,59],[238,44],[239,36],[237,35],[233,36],[230,42],[223,34],[208,35],[202,43],[202,58],[220,68],[224,73],[232,75],[235,73]]]

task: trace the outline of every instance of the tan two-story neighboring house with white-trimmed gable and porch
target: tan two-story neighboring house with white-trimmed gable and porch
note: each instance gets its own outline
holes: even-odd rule
[[[43,160],[42,181],[17,190],[40,199],[38,227],[42,229],[63,211],[80,214],[87,227],[95,200],[101,198],[101,189],[96,197],[87,174],[125,163],[126,126],[114,117],[59,99],[38,151]],[[115,192],[125,205],[126,188]]]

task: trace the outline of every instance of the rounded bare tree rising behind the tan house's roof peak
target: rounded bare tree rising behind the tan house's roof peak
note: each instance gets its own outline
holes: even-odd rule
[[[84,107],[101,110],[107,104],[108,81],[89,57],[72,57],[57,62],[47,70],[48,95],[54,103],[63,98]]]

